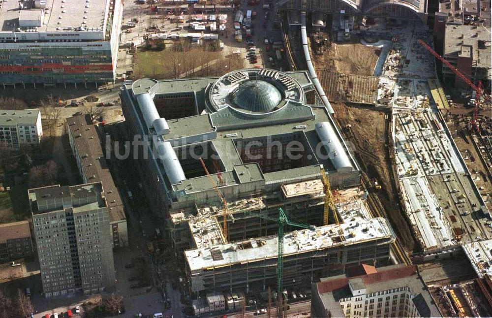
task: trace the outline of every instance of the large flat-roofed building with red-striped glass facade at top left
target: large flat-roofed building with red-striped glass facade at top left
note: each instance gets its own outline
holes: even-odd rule
[[[0,82],[114,81],[122,12],[123,0],[2,1]]]

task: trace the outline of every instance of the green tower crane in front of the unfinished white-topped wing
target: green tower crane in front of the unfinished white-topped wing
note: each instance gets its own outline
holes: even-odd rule
[[[277,300],[281,303],[283,292],[283,227],[291,225],[300,228],[315,229],[313,225],[290,222],[282,208],[278,208],[278,219],[254,212],[244,211],[245,215],[255,216],[258,218],[278,222],[278,257],[277,257]]]

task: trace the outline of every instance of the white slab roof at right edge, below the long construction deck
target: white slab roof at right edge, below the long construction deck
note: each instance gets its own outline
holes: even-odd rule
[[[492,276],[492,240],[463,244],[462,248],[478,277]]]

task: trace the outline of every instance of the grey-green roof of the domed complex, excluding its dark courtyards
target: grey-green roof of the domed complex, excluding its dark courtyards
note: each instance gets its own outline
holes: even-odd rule
[[[134,105],[134,116],[138,117],[142,133],[155,134],[151,138],[153,147],[166,149],[161,150],[163,155],[171,154],[162,159],[162,165],[155,166],[162,173],[165,187],[175,192],[176,201],[190,198],[189,194],[213,190],[207,176],[190,175],[189,169],[183,169],[190,164],[192,156],[187,154],[194,143],[202,143],[217,155],[214,164],[218,163],[220,169],[211,164],[208,169],[220,186],[247,183],[255,187],[275,183],[280,186],[314,179],[320,174],[320,164],[329,173],[357,174],[358,167],[325,107],[306,103],[305,93],[312,90],[306,72],[250,68],[219,78],[140,79],[125,84],[124,88],[128,94],[124,92],[123,96]],[[164,106],[156,106],[159,96],[177,93],[194,93],[198,114],[180,119],[162,118],[159,111]],[[268,138],[285,140],[285,144],[289,140],[301,140],[308,159],[296,166],[277,165],[266,169],[265,163],[245,157],[241,145]],[[324,145],[321,152],[326,151],[328,156],[314,153],[321,143]],[[218,180],[219,176],[225,184]]]

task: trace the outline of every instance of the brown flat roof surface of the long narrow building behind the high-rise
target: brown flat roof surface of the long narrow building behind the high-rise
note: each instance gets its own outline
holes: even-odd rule
[[[74,136],[74,143],[86,174],[86,182],[102,183],[104,196],[109,207],[111,222],[125,220],[120,191],[115,185],[96,127],[89,116],[77,115],[66,119],[68,129]]]

